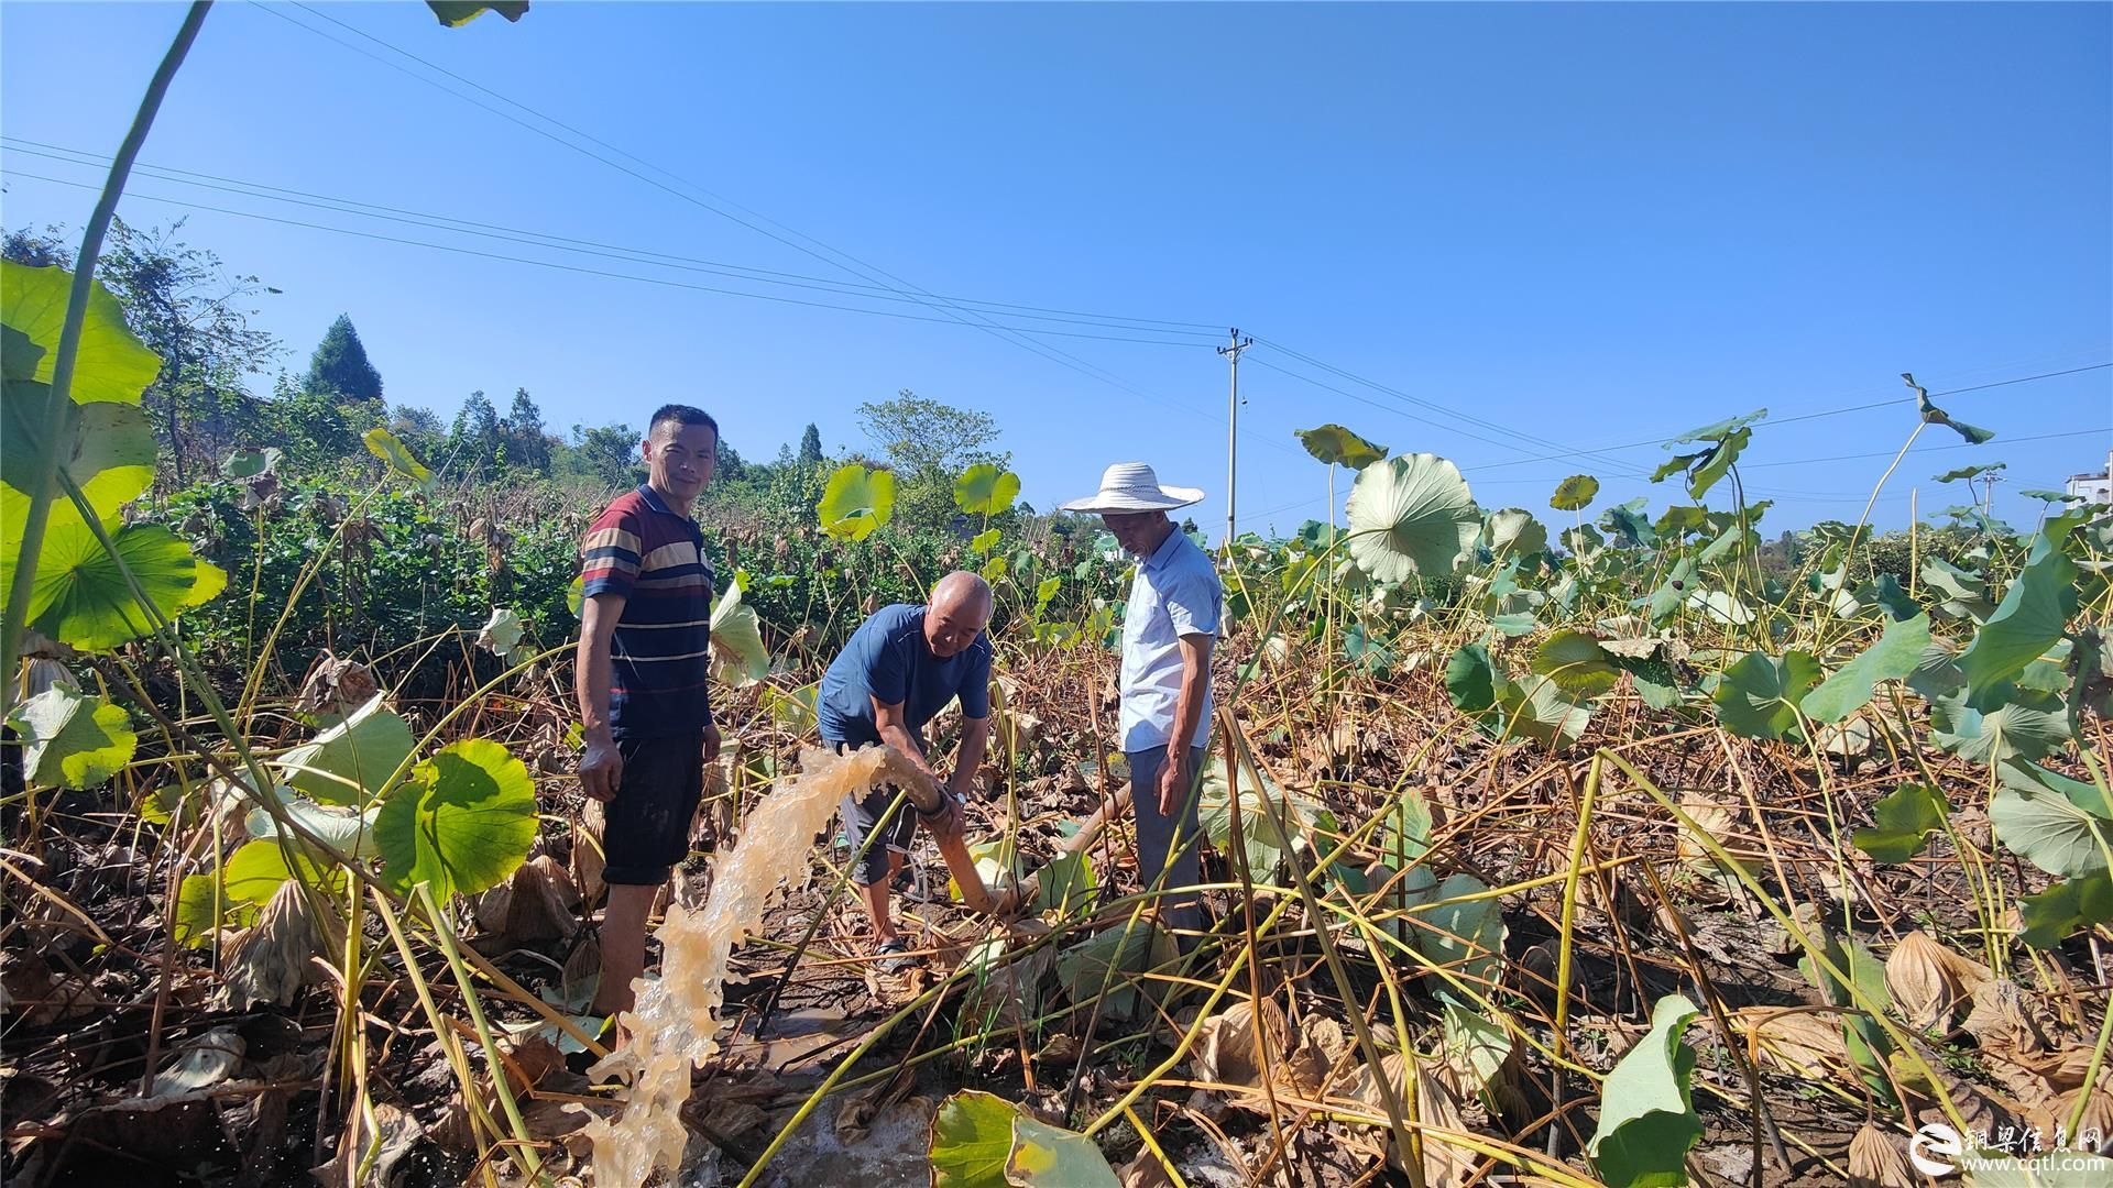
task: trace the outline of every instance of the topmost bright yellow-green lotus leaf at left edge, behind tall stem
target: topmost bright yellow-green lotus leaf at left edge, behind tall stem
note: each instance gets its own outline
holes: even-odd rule
[[[66,268],[30,268],[0,260],[0,323],[19,334],[8,338],[4,374],[11,380],[49,385],[59,359],[59,328],[74,275]],[[34,349],[32,349],[34,347]],[[161,372],[161,355],[125,326],[125,307],[101,281],[89,283],[89,311],[74,353],[74,404],[139,404],[139,393]]]

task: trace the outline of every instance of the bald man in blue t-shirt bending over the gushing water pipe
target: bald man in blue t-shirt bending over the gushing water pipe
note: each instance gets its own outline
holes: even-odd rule
[[[843,797],[843,835],[854,854],[864,850],[852,881],[866,896],[879,953],[909,947],[887,915],[887,888],[911,852],[917,820],[942,837],[961,833],[959,801],[976,782],[991,736],[991,636],[983,632],[989,621],[991,586],[955,571],[932,588],[923,607],[896,602],[875,611],[822,676],[816,712],[826,746],[852,750],[885,742],[942,791],[934,816],[917,812],[909,797],[890,816],[896,788],[887,786],[862,801]],[[923,727],[955,698],[961,698],[961,744],[953,753],[953,776],[942,782],[925,761]]]

